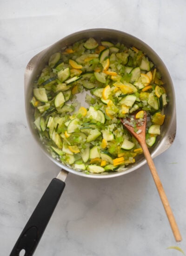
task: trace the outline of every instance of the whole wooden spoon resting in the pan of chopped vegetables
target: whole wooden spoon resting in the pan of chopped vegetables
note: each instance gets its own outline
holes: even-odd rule
[[[150,168],[151,174],[153,175],[153,180],[156,184],[156,188],[158,189],[159,196],[161,198],[161,202],[163,203],[164,209],[166,211],[166,215],[168,217],[168,220],[170,222],[171,228],[173,230],[174,238],[177,242],[180,242],[182,240],[181,235],[179,233],[179,229],[177,226],[177,223],[175,221],[175,218],[173,216],[172,209],[169,205],[168,199],[166,197],[166,193],[163,189],[163,186],[161,184],[161,181],[159,179],[159,175],[157,173],[157,170],[155,168],[153,159],[150,155],[150,152],[146,145],[146,111],[144,111],[144,117],[143,121],[136,121],[136,128],[138,129],[138,133],[134,131],[134,128],[130,125],[130,119],[122,119],[120,118],[123,125],[128,129],[128,131],[139,141],[141,148],[143,149],[143,154],[145,155],[146,161],[148,163],[148,166]],[[127,120],[127,121],[126,121]],[[135,129],[136,129],[135,128]]]

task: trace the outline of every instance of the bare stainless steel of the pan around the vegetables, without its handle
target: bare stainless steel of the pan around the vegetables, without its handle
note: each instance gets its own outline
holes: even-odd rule
[[[36,129],[34,128],[34,125],[33,125],[33,109],[30,105],[30,100],[32,98],[32,92],[33,92],[33,81],[40,74],[41,70],[46,65],[48,58],[51,54],[59,51],[61,47],[71,45],[78,40],[89,38],[89,37],[94,37],[99,41],[111,40],[113,42],[121,42],[121,43],[124,43],[127,47],[131,47],[131,46],[137,47],[138,49],[146,53],[149,59],[153,61],[155,66],[159,69],[160,73],[162,74],[163,81],[165,81],[165,88],[166,88],[166,92],[168,94],[168,98],[170,102],[165,109],[166,120],[162,126],[159,140],[151,148],[152,156],[155,157],[161,154],[171,146],[176,134],[176,109],[175,109],[175,96],[174,96],[173,83],[166,69],[166,66],[164,65],[163,61],[161,61],[159,56],[153,51],[153,49],[147,46],[143,41],[133,37],[130,34],[126,34],[124,32],[112,30],[112,29],[104,29],[104,28],[89,29],[89,30],[84,30],[84,31],[80,31],[80,32],[68,35],[65,38],[54,43],[52,46],[48,47],[44,51],[40,52],[29,61],[26,68],[26,72],[25,72],[25,104],[26,104],[27,121],[31,129],[31,132],[35,140],[39,144],[39,146],[42,148],[45,154],[60,168],[63,168],[77,175],[92,177],[92,178],[108,178],[113,176],[124,175],[137,168],[140,168],[142,165],[146,163],[146,160],[144,159],[143,155],[140,155],[139,158],[136,159],[135,163],[127,166],[127,168],[123,168],[120,172],[86,175],[84,172],[77,171],[71,168],[70,166],[64,165],[57,159],[54,159],[48,153],[42,141],[40,141],[38,133],[36,132]],[[78,100],[81,102],[81,106],[84,106],[84,107],[87,107],[87,103],[85,101],[82,101],[82,99],[84,99],[86,93],[87,92],[84,92],[83,95],[77,94]]]

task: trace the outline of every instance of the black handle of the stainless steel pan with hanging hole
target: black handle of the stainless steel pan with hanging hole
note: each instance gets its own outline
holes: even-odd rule
[[[54,178],[50,182],[44,195],[41,197],[40,202],[20,234],[20,237],[15,243],[10,256],[19,256],[22,249],[25,250],[24,256],[33,255],[64,188],[65,182],[62,182],[59,179]]]

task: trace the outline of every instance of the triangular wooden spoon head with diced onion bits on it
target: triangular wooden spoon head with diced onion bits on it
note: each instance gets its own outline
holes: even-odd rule
[[[134,115],[133,120],[131,120],[131,118],[120,118],[123,125],[140,142],[140,144],[144,143],[146,138],[146,117],[146,111],[144,111],[143,119],[136,119],[136,114]]]

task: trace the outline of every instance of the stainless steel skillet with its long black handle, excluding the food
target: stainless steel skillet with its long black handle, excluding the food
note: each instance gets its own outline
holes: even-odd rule
[[[98,40],[111,40],[115,42],[119,41],[124,43],[128,47],[135,46],[145,52],[149,59],[153,61],[153,63],[161,72],[163,81],[165,82],[166,92],[169,98],[169,104],[168,107],[165,109],[166,120],[164,122],[164,125],[162,126],[161,135],[159,136],[159,140],[151,151],[152,157],[163,153],[167,148],[171,146],[174,141],[176,134],[176,108],[173,83],[163,61],[161,61],[159,56],[143,41],[137,39],[136,37],[133,37],[130,34],[126,34],[124,32],[113,29],[89,29],[68,35],[34,56],[29,61],[25,72],[25,105],[27,121],[33,137],[35,138],[39,146],[55,164],[62,168],[62,170],[60,171],[60,174],[52,180],[52,182],[46,189],[46,192],[42,196],[32,216],[30,217],[25,228],[23,229],[18,241],[16,242],[10,254],[11,256],[20,255],[21,250],[25,250],[25,256],[33,255],[33,252],[40,241],[46,225],[50,217],[52,216],[53,210],[55,209],[55,206],[59,201],[60,195],[63,192],[63,189],[65,187],[65,179],[68,172],[81,176],[86,176],[88,178],[111,178],[132,172],[133,170],[140,168],[146,163],[144,157],[141,156],[134,164],[130,165],[128,168],[125,168],[120,172],[86,175],[84,172],[80,172],[73,168],[70,168],[54,159],[47,152],[45,146],[40,141],[40,138],[34,128],[33,109],[30,106],[30,100],[32,98],[33,92],[33,81],[36,79],[37,75],[40,74],[42,68],[46,65],[48,58],[51,54],[58,52],[61,47],[71,45],[78,40],[89,37],[94,37]]]

